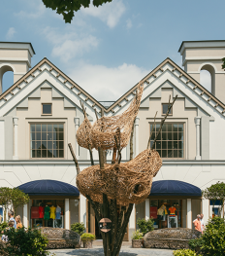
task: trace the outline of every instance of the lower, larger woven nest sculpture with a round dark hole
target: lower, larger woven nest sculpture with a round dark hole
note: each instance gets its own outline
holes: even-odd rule
[[[152,178],[162,166],[155,150],[147,149],[125,164],[92,165],[77,176],[77,186],[83,196],[102,202],[103,193],[117,204],[140,203],[150,194]]]

